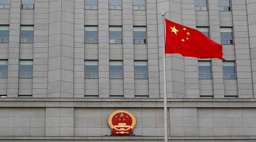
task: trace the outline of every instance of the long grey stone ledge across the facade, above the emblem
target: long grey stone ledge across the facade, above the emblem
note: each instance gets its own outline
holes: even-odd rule
[[[162,108],[150,98],[1,98],[0,107]],[[256,108],[256,99],[168,99],[169,108]]]

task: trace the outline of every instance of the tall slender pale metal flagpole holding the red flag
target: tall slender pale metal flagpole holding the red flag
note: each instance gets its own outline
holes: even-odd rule
[[[168,121],[167,121],[167,95],[166,95],[166,28],[165,28],[165,18],[166,12],[162,12],[163,17],[163,71],[164,71],[164,142],[168,142]]]

